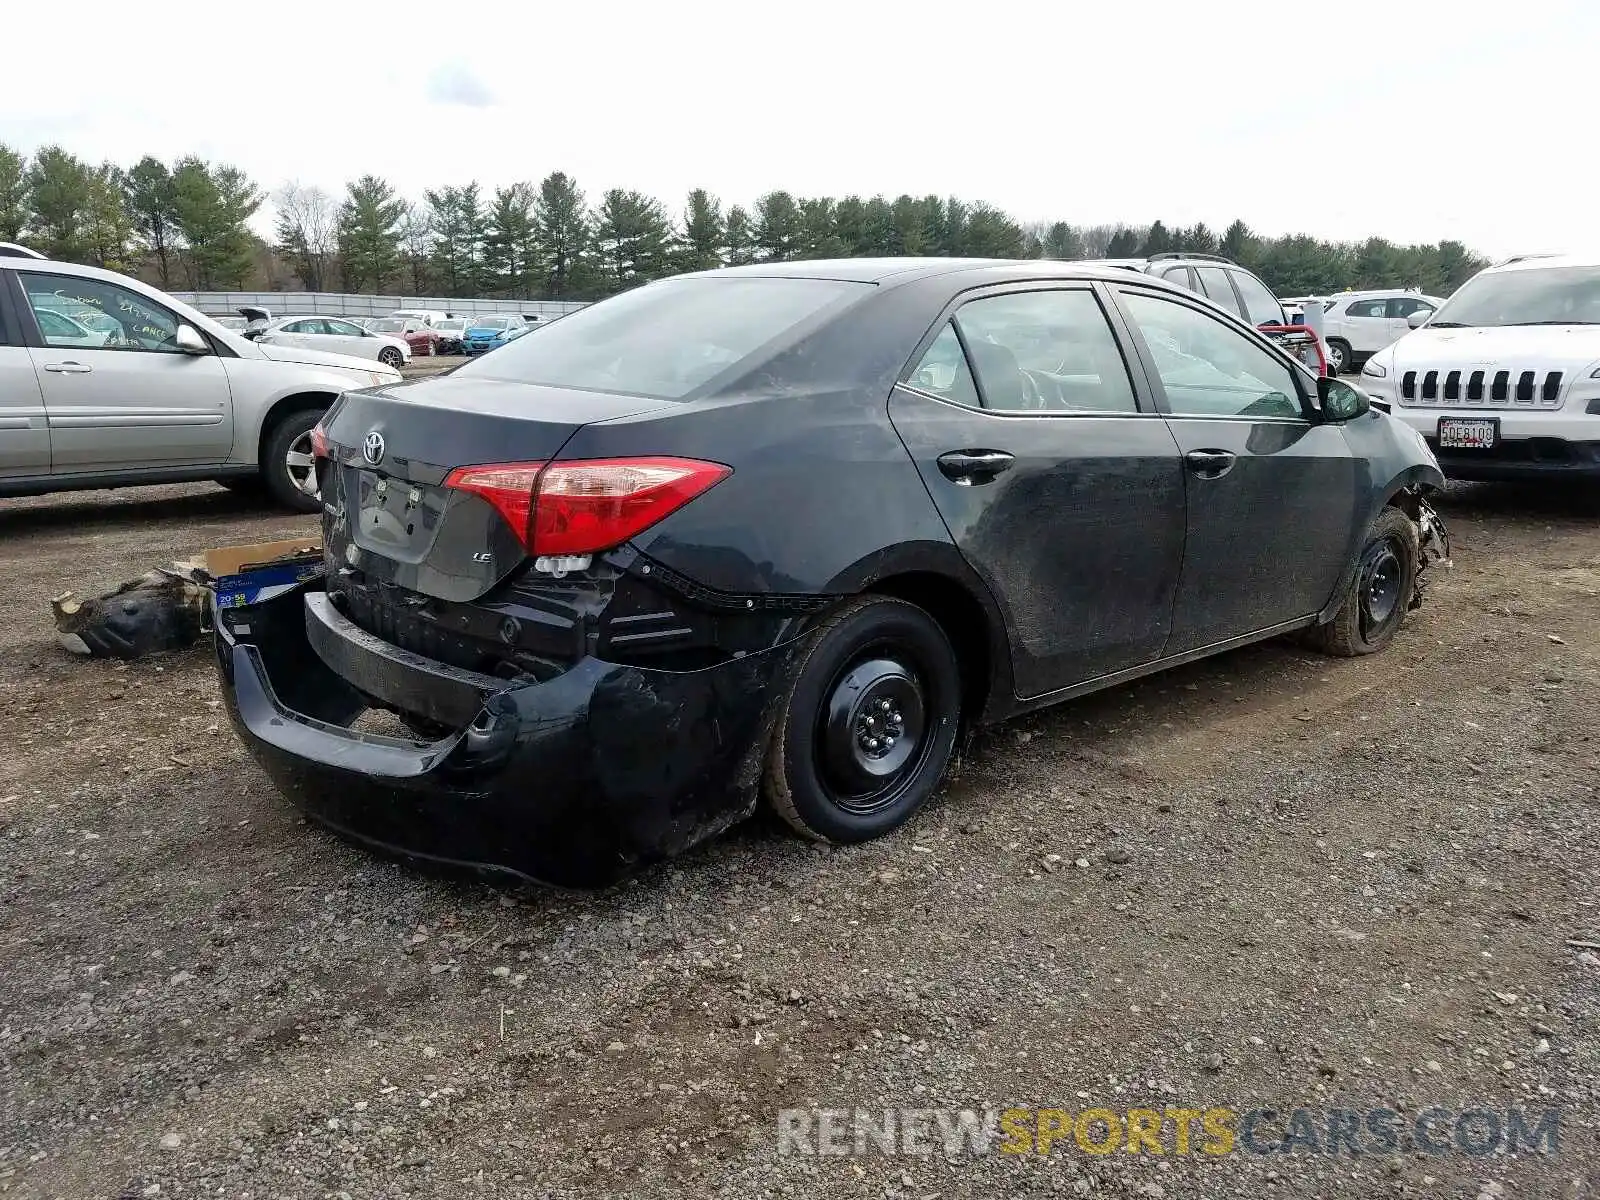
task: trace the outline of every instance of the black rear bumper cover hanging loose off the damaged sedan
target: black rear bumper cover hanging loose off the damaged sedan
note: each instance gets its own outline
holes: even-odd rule
[[[392,853],[571,888],[611,883],[754,810],[763,698],[795,653],[688,672],[587,658],[507,685],[349,637],[310,586],[213,618],[229,717],[309,818]],[[459,715],[474,694],[470,720],[437,741],[350,728],[373,707]]]

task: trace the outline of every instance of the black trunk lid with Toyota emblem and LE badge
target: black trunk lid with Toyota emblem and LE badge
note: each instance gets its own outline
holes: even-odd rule
[[[443,486],[450,472],[542,462],[592,421],[662,406],[670,402],[461,376],[349,392],[326,427],[330,565],[419,600],[477,600],[526,552],[494,506]]]

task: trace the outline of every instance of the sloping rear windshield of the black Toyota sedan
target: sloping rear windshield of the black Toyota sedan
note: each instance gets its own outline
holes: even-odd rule
[[[518,338],[458,368],[496,379],[677,400],[774,338],[870,283],[816,278],[675,278]]]

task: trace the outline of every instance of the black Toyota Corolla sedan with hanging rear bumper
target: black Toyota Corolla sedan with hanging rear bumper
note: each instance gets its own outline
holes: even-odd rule
[[[1293,630],[1382,650],[1426,443],[1200,296],[1070,262],[683,275],[314,432],[325,571],[216,613],[317,821],[592,886],[754,811],[858,842],[963,728]]]

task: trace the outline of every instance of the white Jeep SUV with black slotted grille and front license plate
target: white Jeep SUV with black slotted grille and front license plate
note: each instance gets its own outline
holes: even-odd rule
[[[1600,478],[1600,258],[1510,259],[1411,323],[1362,387],[1446,475]]]

